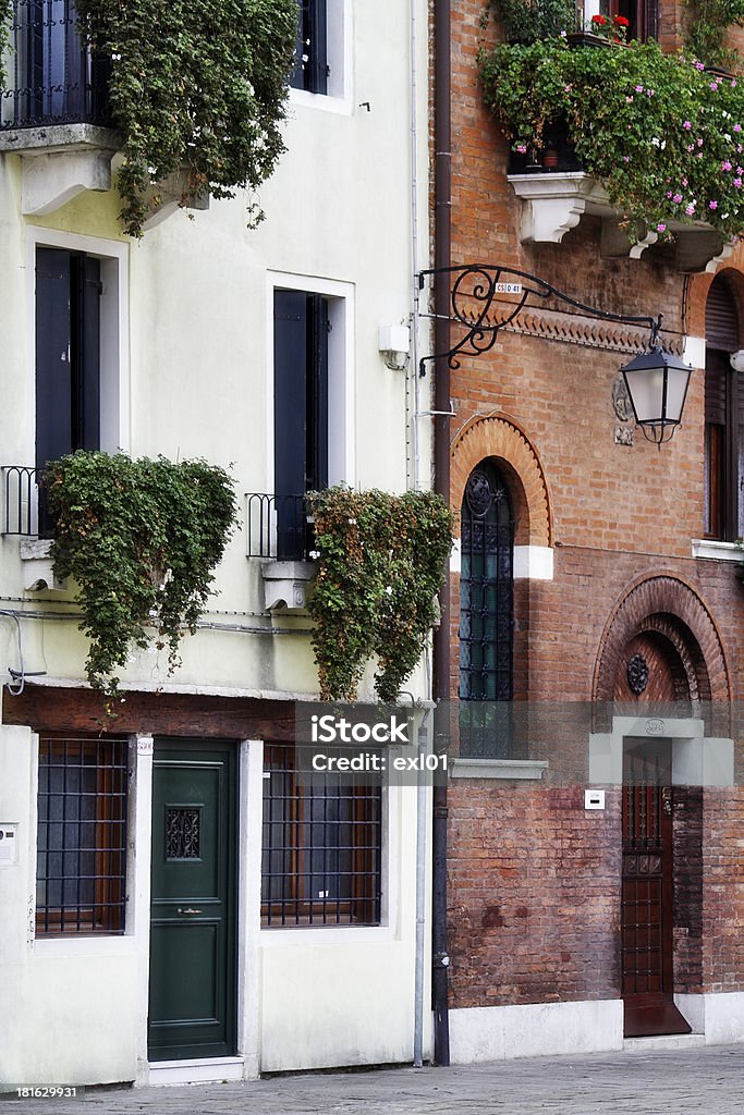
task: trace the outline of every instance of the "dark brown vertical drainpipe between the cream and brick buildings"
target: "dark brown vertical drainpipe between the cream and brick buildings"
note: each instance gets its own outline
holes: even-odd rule
[[[434,6],[434,266],[451,265],[452,185],[451,185],[451,0],[435,0]],[[450,281],[441,275],[434,288],[434,351],[450,349]],[[434,365],[434,486],[450,503],[450,368],[446,360]],[[442,621],[434,637],[434,697],[436,710],[435,749],[448,733],[450,697],[450,581],[441,595]],[[450,1022],[447,1017],[447,787],[434,787],[432,833],[432,1005],[434,1009],[434,1060],[450,1064]]]

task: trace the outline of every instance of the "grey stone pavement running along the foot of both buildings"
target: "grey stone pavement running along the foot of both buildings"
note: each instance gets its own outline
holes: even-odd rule
[[[9,1101],[23,1115],[742,1115],[744,1045],[540,1057],[454,1068],[277,1076],[247,1084],[87,1089]]]

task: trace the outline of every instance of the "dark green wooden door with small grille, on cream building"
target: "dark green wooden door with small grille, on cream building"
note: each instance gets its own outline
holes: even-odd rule
[[[235,1051],[235,783],[234,745],[155,743],[151,1060]]]

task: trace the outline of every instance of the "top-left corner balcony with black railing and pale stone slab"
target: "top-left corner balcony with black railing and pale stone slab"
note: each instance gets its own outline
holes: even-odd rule
[[[84,190],[109,190],[109,59],[85,46],[69,0],[13,0],[9,32],[0,152],[22,158],[21,211],[44,215]]]

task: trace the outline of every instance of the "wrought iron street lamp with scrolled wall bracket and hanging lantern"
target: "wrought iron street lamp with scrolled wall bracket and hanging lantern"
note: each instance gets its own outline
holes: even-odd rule
[[[636,421],[647,440],[660,448],[674,435],[682,421],[693,369],[680,357],[664,350],[659,340],[661,314],[653,318],[610,313],[570,298],[544,279],[538,279],[526,271],[494,264],[472,263],[421,271],[417,277],[419,290],[424,289],[429,275],[448,277],[451,312],[447,317],[454,324],[461,326],[464,332],[447,352],[424,357],[419,361],[419,375],[425,375],[426,363],[434,360],[444,359],[450,368],[456,369],[462,356],[487,352],[499,331],[514,321],[523,309],[534,306],[535,299],[543,302],[555,299],[601,321],[648,327],[650,338],[647,350],[624,365],[620,371]]]

